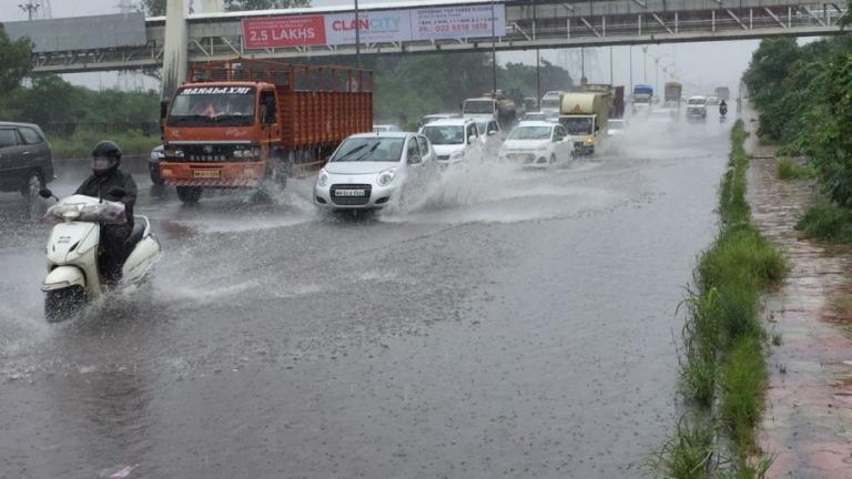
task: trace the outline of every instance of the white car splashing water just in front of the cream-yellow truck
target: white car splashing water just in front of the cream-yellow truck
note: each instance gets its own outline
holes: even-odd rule
[[[500,159],[525,167],[548,167],[574,160],[574,139],[561,124],[520,122],[503,142]]]

